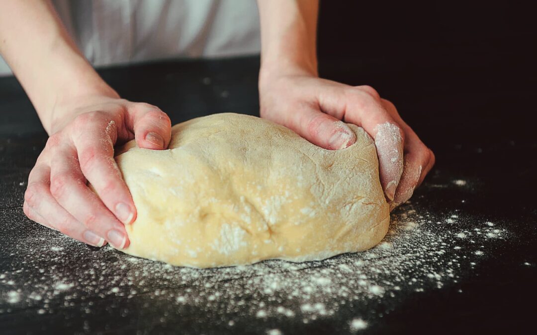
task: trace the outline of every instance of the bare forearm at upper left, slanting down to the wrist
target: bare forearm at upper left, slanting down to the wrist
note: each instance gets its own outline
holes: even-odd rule
[[[83,96],[117,95],[86,61],[48,0],[0,2],[0,54],[50,133],[54,106]]]

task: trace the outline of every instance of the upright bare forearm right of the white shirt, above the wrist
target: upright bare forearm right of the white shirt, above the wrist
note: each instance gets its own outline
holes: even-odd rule
[[[317,0],[258,0],[261,68],[317,75]]]

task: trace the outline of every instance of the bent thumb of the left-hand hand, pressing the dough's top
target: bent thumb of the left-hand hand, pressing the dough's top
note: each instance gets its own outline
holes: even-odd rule
[[[134,132],[136,144],[141,148],[161,150],[170,144],[170,118],[148,103],[135,102],[129,106],[127,127]]]

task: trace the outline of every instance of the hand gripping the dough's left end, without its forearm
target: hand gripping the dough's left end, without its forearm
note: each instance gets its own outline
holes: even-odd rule
[[[136,219],[136,208],[114,145],[135,138],[142,148],[168,147],[169,117],[147,103],[101,95],[56,106],[52,115],[52,136],[28,177],[24,213],[78,241],[127,248],[124,224]]]

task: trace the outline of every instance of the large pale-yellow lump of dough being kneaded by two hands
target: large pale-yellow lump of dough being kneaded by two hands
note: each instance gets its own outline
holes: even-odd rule
[[[216,114],[173,126],[169,150],[129,142],[115,158],[138,212],[127,254],[217,267],[361,251],[388,230],[373,140],[317,147],[258,117]]]

